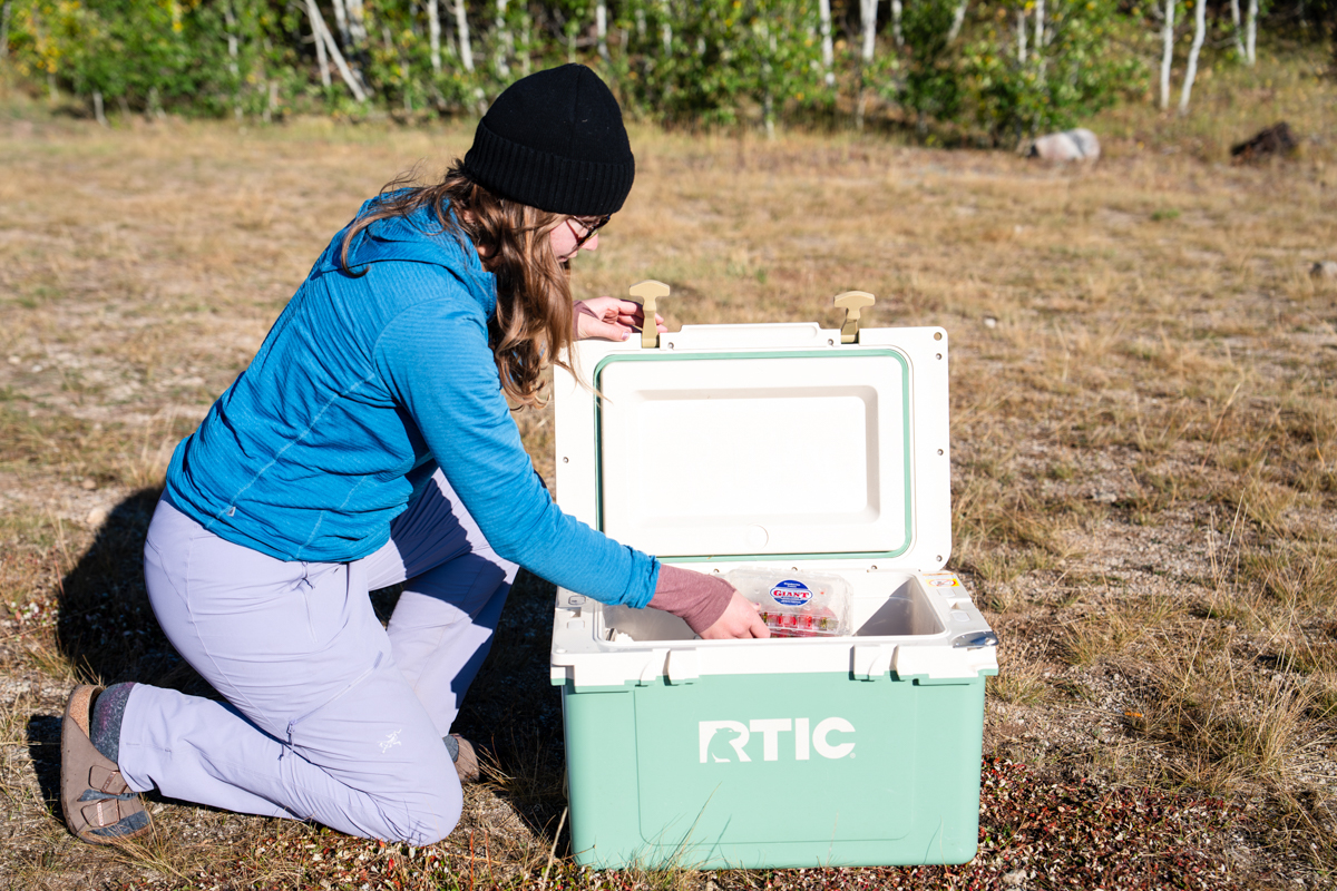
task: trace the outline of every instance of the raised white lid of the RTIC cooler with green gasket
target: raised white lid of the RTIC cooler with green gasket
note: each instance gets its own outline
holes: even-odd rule
[[[945,562],[941,329],[686,326],[574,358],[602,398],[559,371],[558,497],[610,537],[673,562]]]

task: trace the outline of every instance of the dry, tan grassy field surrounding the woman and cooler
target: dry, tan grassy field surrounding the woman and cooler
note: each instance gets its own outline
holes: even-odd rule
[[[115,120],[0,94],[0,886],[13,888],[1330,887],[1337,883],[1337,85],[1318,56],[1214,72],[1187,118],[1092,122],[1106,155],[849,135],[634,132],[580,295],[670,282],[682,323],[953,338],[955,552],[1001,637],[981,851],[960,868],[574,867],[527,578],[461,715],[495,752],[460,828],[410,850],[154,799],[94,850],[55,804],[78,680],[207,692],[139,569],[172,445],[360,202],[467,127]],[[1275,120],[1285,163],[1227,147]],[[552,477],[551,417],[517,418]],[[378,596],[384,609],[393,592]]]

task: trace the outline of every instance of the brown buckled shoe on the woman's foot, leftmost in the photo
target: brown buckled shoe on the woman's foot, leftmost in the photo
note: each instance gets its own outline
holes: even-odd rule
[[[111,844],[148,832],[148,812],[120,768],[88,739],[100,687],[82,684],[70,695],[60,724],[60,810],[66,826],[88,844]]]

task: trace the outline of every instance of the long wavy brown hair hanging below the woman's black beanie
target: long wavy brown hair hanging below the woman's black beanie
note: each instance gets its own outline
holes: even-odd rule
[[[429,207],[443,231],[472,242],[464,248],[477,247],[483,269],[496,277],[497,310],[488,339],[503,391],[517,406],[541,407],[544,365],[570,370],[562,354],[571,343],[571,267],[556,258],[548,239],[566,216],[495,195],[475,183],[459,160],[435,186],[412,186],[414,179],[410,171],[386,183],[385,198],[349,226],[344,270],[362,274],[349,271],[348,251],[364,228]]]

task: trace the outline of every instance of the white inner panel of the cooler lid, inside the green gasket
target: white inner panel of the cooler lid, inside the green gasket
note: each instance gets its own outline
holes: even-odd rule
[[[604,359],[599,525],[660,557],[888,556],[912,541],[896,349]]]

